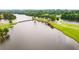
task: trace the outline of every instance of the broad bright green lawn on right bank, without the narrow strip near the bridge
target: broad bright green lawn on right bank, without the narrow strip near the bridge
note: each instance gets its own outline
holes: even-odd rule
[[[77,42],[79,42],[79,27],[76,29],[74,26],[68,26],[68,24],[56,24],[54,22],[50,22],[52,26],[57,28],[58,30],[62,31],[65,35],[73,38]]]

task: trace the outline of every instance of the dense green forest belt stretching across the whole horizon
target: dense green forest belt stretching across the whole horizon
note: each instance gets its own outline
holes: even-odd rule
[[[44,10],[0,10],[0,13],[8,12],[14,14],[25,14],[28,16],[52,18],[51,15],[61,15],[63,20],[79,21],[79,10],[61,10],[61,9],[44,9]],[[54,18],[53,17],[53,18]],[[58,18],[55,18],[58,20]]]

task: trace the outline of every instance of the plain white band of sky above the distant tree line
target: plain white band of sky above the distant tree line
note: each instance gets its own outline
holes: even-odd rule
[[[0,9],[79,9],[78,0],[0,0]]]

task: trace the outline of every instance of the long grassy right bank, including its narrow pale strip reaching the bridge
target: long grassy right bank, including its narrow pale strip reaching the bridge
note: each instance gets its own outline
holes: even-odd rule
[[[53,21],[48,21],[47,19],[43,19],[43,18],[35,18],[35,20],[48,23],[51,27],[55,27],[56,29],[63,32],[65,35],[79,42],[79,25],[69,24],[64,22],[62,22],[61,24],[57,24]]]

